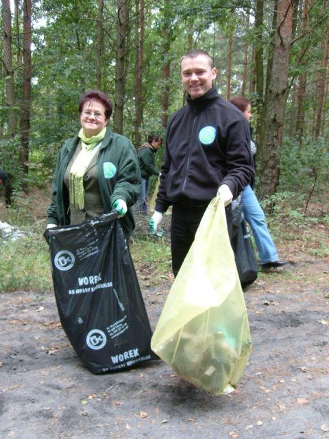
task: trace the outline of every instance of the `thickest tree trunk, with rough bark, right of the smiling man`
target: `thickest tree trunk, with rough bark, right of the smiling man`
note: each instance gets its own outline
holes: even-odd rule
[[[267,132],[260,165],[260,198],[273,195],[279,184],[279,150],[282,142],[284,110],[287,102],[292,24],[293,0],[278,1],[276,40],[266,114]]]

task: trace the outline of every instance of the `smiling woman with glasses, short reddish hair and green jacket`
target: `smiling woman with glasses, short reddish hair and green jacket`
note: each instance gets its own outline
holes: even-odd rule
[[[129,237],[134,228],[131,206],[141,190],[134,146],[108,128],[112,102],[105,93],[81,95],[79,113],[81,129],[58,155],[47,228],[79,224],[114,209]]]

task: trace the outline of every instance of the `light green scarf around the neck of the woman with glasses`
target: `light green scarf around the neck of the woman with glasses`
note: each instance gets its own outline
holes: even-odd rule
[[[92,150],[103,140],[105,134],[106,127],[96,136],[86,137],[83,128],[78,134],[81,139],[82,149],[77,154],[71,167],[69,188],[71,204],[77,209],[84,209],[84,173],[94,156]]]

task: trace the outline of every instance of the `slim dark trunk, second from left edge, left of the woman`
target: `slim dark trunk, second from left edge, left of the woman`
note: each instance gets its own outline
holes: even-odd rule
[[[23,2],[23,108],[21,116],[21,142],[22,150],[20,162],[25,174],[27,174],[29,161],[29,126],[30,126],[30,108],[31,108],[31,44],[32,44],[32,27],[31,27],[31,0]]]

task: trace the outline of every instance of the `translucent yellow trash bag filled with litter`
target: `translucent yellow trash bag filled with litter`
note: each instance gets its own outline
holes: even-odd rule
[[[252,351],[245,300],[223,202],[210,202],[175,278],[151,348],[179,375],[213,394],[241,378]]]

